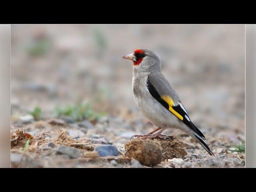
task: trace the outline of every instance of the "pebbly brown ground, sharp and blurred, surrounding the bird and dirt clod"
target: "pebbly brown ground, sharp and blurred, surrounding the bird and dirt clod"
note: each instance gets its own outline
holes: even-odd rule
[[[136,48],[160,56],[216,154],[169,128],[163,134],[188,154],[153,167],[245,166],[243,153],[226,150],[245,139],[243,25],[16,25],[11,44],[12,167],[151,167],[125,157],[132,135],[155,129],[134,104],[132,63],[122,59]],[[119,156],[94,151],[106,144]]]

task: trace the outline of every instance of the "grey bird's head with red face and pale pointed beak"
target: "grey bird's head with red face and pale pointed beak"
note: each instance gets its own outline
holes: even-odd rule
[[[154,52],[147,49],[136,49],[131,54],[123,56],[123,58],[133,61],[134,68],[161,70],[160,59]]]

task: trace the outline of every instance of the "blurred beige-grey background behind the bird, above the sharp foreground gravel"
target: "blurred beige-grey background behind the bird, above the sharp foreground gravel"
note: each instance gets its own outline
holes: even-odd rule
[[[85,136],[117,146],[150,132],[133,100],[132,62],[122,59],[137,48],[158,54],[162,73],[215,152],[245,139],[244,25],[12,25],[11,130],[42,131],[17,123],[32,114],[89,120],[96,129]]]

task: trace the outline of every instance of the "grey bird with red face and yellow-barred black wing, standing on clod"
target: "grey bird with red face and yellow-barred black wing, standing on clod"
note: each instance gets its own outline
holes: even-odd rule
[[[148,49],[136,49],[122,58],[133,62],[132,92],[136,106],[157,127],[152,132],[140,136],[156,138],[162,136],[161,133],[166,128],[178,128],[214,156],[204,141],[204,134],[192,123],[178,94],[161,73],[160,58]],[[154,134],[155,132],[157,133]]]

